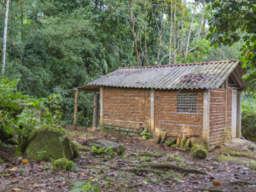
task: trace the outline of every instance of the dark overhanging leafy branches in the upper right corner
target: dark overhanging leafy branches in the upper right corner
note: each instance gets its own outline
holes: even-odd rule
[[[212,1],[212,20],[210,21],[210,33],[208,38],[217,47],[218,44],[232,45],[241,39],[244,44],[241,47],[242,67],[249,68],[245,79],[251,88],[256,86],[256,23],[255,3],[247,1]]]

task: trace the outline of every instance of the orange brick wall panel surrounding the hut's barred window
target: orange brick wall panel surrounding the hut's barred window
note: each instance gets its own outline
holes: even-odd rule
[[[154,91],[154,126],[169,136],[202,136],[203,91],[197,91],[196,113],[177,113],[177,91]]]

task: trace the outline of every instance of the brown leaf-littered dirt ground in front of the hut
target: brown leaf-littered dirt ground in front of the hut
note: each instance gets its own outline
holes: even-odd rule
[[[209,153],[206,160],[195,160],[189,152],[154,144],[142,137],[113,136],[102,132],[67,130],[78,143],[93,139],[108,139],[125,144],[125,154],[91,154],[90,148],[80,151],[74,160],[76,172],[53,171],[51,162],[21,159],[0,164],[0,191],[69,191],[77,182],[97,185],[100,191],[256,191],[256,171],[247,165],[223,163],[216,160],[217,152]],[[206,172],[197,174],[164,170],[129,172],[142,168],[144,163],[165,163]],[[237,182],[238,181],[238,182]],[[207,190],[208,189],[208,190]]]

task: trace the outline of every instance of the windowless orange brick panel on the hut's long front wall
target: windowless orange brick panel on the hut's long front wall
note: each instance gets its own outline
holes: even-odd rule
[[[150,90],[103,88],[103,125],[149,128]]]

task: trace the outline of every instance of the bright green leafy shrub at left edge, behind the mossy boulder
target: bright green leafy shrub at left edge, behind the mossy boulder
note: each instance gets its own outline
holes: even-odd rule
[[[17,143],[24,149],[32,130],[40,125],[58,125],[61,121],[60,96],[26,96],[17,90],[19,80],[0,79],[0,140]]]

